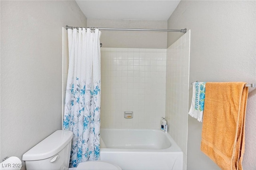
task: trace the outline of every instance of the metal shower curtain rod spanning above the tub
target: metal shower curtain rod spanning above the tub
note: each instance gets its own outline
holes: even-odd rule
[[[78,29],[78,28],[90,28],[90,29],[100,29],[100,30],[112,30],[112,31],[172,31],[186,33],[187,29],[136,29],[136,28],[95,28],[95,27],[69,27],[66,25],[66,29]]]

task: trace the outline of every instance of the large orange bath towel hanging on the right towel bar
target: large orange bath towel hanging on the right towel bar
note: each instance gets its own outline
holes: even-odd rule
[[[201,150],[222,170],[242,170],[248,87],[206,82]]]

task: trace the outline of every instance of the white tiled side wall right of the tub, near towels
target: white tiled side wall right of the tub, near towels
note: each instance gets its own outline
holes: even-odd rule
[[[184,153],[187,165],[190,30],[167,49],[166,118],[170,135]]]

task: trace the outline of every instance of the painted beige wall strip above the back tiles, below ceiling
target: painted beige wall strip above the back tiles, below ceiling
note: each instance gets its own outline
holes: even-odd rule
[[[166,21],[88,19],[88,27],[167,29]],[[103,47],[166,49],[167,33],[156,31],[104,31]]]

